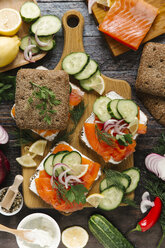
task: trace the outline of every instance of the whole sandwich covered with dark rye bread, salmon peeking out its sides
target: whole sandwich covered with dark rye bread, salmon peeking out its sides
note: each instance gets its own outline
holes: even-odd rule
[[[52,76],[52,75],[55,75],[55,76]],[[49,80],[49,84],[47,84],[48,80]],[[44,110],[41,109],[42,102],[44,102],[44,99],[39,99],[40,103],[37,103],[37,104],[34,103],[35,99],[31,97],[33,96],[35,92],[33,91],[35,90],[35,86],[33,87],[33,85],[31,85],[30,82],[33,82],[33,83],[36,82],[38,86],[40,85],[40,82],[41,82],[41,84],[44,87],[47,85],[46,86],[47,89],[52,88],[54,92],[58,92],[55,94],[59,95],[60,97],[59,99],[61,99],[61,103],[58,106],[59,115],[57,115],[55,111],[52,111],[52,109],[47,109],[49,113],[47,117],[48,118],[47,121],[49,122],[49,118],[52,117],[54,121],[56,120],[54,124],[51,122],[47,123],[47,121],[44,121],[44,118],[46,117],[46,111],[44,113]],[[65,86],[65,84],[67,84],[67,86]],[[27,85],[27,87],[25,85]],[[28,90],[28,87],[31,90],[30,89]],[[68,94],[68,91],[69,91],[69,94]],[[24,92],[25,92],[25,95],[23,96]],[[81,91],[77,86],[69,83],[68,76],[64,71],[56,71],[56,72],[48,71],[47,69],[45,70],[44,67],[42,67],[40,70],[34,70],[34,69],[20,70],[17,74],[16,104],[13,106],[11,110],[11,116],[15,119],[16,111],[17,111],[18,113],[17,113],[16,122],[18,123],[18,125],[20,126],[21,119],[24,120],[20,126],[22,129],[30,128],[32,129],[33,132],[39,134],[41,137],[49,141],[52,141],[58,135],[61,129],[66,128],[66,124],[67,124],[68,117],[69,117],[68,111],[72,110],[75,106],[79,105],[80,102],[83,100],[83,96],[84,96],[83,91]],[[24,99],[23,102],[22,102],[23,100],[22,98]],[[25,106],[26,106],[26,109],[25,109]],[[57,108],[57,106],[54,106],[54,108]],[[52,112],[52,114],[50,112]],[[38,117],[36,116],[36,114],[38,115]],[[58,116],[60,120],[58,120],[57,118]],[[38,124],[37,126],[34,126],[32,119],[34,120],[35,125],[36,125],[37,118],[38,118]],[[32,121],[31,125],[28,122],[28,119],[30,119],[29,122]],[[42,126],[41,126],[40,120],[42,120]],[[64,124],[63,122],[65,122],[65,125],[63,125]]]

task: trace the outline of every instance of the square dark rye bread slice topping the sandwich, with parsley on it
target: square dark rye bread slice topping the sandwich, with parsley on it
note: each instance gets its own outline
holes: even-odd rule
[[[35,100],[29,104],[28,99],[32,96],[33,87],[29,82],[37,85],[47,86],[51,89],[56,99],[61,104],[53,106],[57,112],[51,115],[51,124],[43,120],[39,110],[35,105],[40,100]],[[38,101],[38,102],[37,102]],[[64,130],[68,124],[69,117],[69,76],[64,71],[21,69],[16,77],[15,95],[15,119],[16,124],[21,129],[48,129]]]

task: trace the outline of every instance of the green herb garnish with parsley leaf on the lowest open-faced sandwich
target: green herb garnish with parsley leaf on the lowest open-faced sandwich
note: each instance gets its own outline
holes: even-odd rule
[[[64,185],[54,181],[53,187],[58,189],[59,198],[62,198],[64,201],[69,203],[75,201],[77,204],[84,204],[86,202],[85,193],[88,190],[83,184],[70,185],[70,189],[67,190]]]

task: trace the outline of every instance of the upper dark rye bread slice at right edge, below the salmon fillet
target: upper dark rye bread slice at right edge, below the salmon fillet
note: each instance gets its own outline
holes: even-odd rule
[[[165,97],[165,44],[144,46],[135,86],[143,93]]]

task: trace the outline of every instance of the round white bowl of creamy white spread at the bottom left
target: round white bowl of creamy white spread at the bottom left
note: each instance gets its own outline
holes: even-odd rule
[[[47,214],[34,213],[26,216],[21,220],[17,229],[44,229],[53,236],[53,242],[49,248],[57,248],[61,240],[61,231],[57,222]],[[23,242],[16,238],[19,248],[40,248],[40,246],[33,246],[30,243]]]

